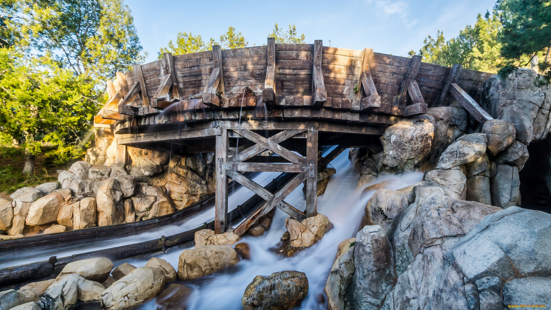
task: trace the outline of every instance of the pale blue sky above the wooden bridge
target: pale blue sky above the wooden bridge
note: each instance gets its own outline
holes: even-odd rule
[[[323,45],[406,56],[418,51],[428,34],[444,31],[446,39],[456,36],[478,13],[491,10],[494,0],[403,1],[155,1],[125,0],[144,47],[147,62],[177,33],[201,34],[204,41],[219,40],[234,26],[249,45],[265,44],[274,23],[287,29],[296,24],[306,43],[323,40]]]

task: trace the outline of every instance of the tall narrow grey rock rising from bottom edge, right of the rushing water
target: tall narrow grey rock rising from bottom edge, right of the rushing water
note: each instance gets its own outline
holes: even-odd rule
[[[354,242],[355,272],[345,295],[350,309],[379,309],[396,278],[392,247],[379,225],[365,226]]]

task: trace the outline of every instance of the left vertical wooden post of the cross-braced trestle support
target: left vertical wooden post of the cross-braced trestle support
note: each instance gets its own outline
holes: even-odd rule
[[[224,233],[228,225],[228,180],[224,164],[228,158],[228,130],[222,129],[216,136],[216,185],[214,233]]]

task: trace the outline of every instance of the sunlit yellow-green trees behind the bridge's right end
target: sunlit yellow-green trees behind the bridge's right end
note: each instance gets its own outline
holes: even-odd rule
[[[423,61],[436,65],[452,66],[459,63],[467,69],[497,72],[502,62],[499,53],[501,45],[497,39],[500,29],[501,23],[496,12],[486,12],[484,17],[478,14],[474,26],[467,25],[456,38],[446,41],[440,30],[435,39],[427,36],[419,55]]]

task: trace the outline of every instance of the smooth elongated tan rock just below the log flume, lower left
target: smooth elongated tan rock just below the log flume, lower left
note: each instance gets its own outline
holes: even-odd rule
[[[86,280],[101,283],[107,279],[112,269],[113,263],[105,257],[89,258],[67,264],[58,278],[66,274],[78,274]]]

